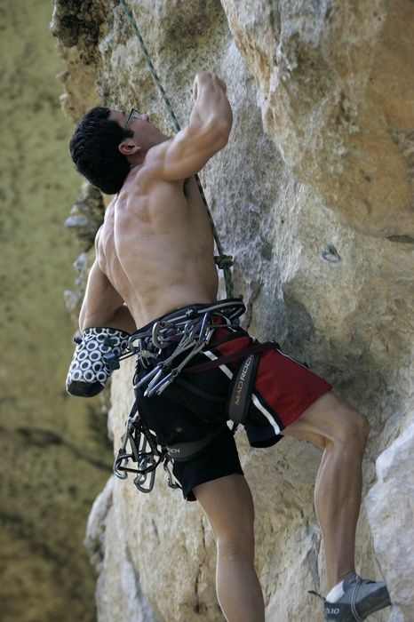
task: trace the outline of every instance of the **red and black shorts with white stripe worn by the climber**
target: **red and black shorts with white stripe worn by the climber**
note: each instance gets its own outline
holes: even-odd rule
[[[203,351],[188,368],[217,361],[223,356],[245,351],[253,343],[241,328],[217,328]],[[234,374],[245,356],[200,373],[181,371],[179,377],[161,395],[144,397],[137,392],[139,413],[155,432],[158,443],[173,445],[196,441],[221,428],[219,434],[194,459],[174,463],[174,474],[183,495],[194,500],[193,489],[200,483],[229,474],[243,474],[235,440],[225,425],[227,401]],[[136,379],[146,370],[137,370]],[[307,410],[330,384],[285,355],[277,344],[259,354],[259,364],[251,393],[245,431],[253,447],[269,447],[283,438],[283,428]]]

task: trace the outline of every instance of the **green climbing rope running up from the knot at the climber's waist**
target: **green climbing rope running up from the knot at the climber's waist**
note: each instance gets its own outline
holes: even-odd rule
[[[135,20],[133,13],[131,12],[130,7],[128,6],[128,4],[126,4],[125,0],[119,0],[120,4],[123,7],[123,11],[128,19],[128,21],[130,22],[132,31],[134,32],[134,34],[137,36],[138,42],[139,42],[139,47],[141,49],[142,52],[142,56],[144,57],[144,59],[147,62],[147,68],[149,69],[151,76],[153,77],[153,80],[155,82],[156,87],[158,88],[159,92],[161,93],[161,97],[163,98],[163,102],[171,116],[171,121],[172,124],[176,130],[176,132],[180,131],[180,127],[179,127],[179,122],[177,121],[177,117],[174,114],[174,111],[172,109],[171,106],[171,102],[168,99],[164,89],[163,89],[163,84],[161,84],[159,77],[157,76],[157,73],[155,71],[154,65],[152,63],[152,60],[149,57],[149,54],[147,52],[147,47],[144,44],[144,41],[142,39],[142,36],[139,33],[139,28],[137,26],[137,21]],[[227,293],[227,298],[233,298],[233,279],[232,279],[232,274],[231,274],[231,267],[233,266],[233,257],[231,255],[226,255],[225,252],[223,251],[223,247],[219,241],[219,234],[217,232],[216,226],[214,224],[214,221],[211,217],[211,211],[209,209],[209,205],[207,203],[207,199],[205,198],[204,195],[204,191],[203,191],[203,186],[202,183],[200,181],[200,178],[198,175],[195,175],[195,181],[197,182],[197,186],[198,189],[200,190],[200,195],[202,196],[203,199],[203,203],[205,205],[205,209],[207,210],[207,214],[209,216],[210,222],[211,222],[211,228],[212,228],[212,233],[214,235],[214,240],[216,242],[216,246],[217,246],[217,250],[219,251],[219,255],[216,256],[214,259],[216,260],[216,264],[217,266],[223,270],[223,275],[224,275],[224,281],[226,283],[226,293]]]

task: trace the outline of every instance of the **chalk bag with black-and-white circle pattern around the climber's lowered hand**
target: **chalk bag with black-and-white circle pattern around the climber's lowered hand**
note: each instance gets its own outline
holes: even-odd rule
[[[86,328],[76,337],[76,350],[70,363],[66,388],[70,395],[92,397],[107,384],[112,371],[119,369],[119,357],[130,335],[105,326]]]

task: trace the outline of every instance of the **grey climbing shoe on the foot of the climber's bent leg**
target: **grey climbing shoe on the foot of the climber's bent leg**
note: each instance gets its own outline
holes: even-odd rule
[[[371,613],[391,605],[385,581],[370,581],[350,572],[344,578],[343,590],[344,594],[337,602],[322,598],[325,622],[360,622]]]

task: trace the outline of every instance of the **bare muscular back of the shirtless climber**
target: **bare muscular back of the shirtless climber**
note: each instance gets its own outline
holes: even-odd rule
[[[165,181],[132,170],[97,239],[101,271],[136,323],[216,299],[213,235],[195,178]]]

